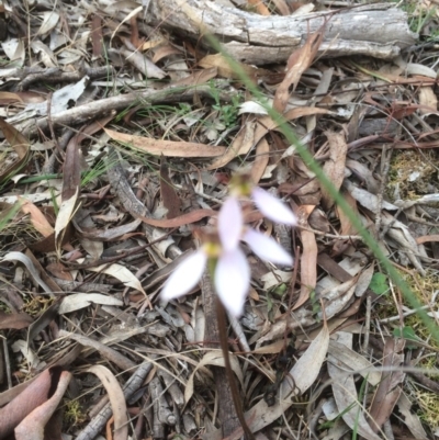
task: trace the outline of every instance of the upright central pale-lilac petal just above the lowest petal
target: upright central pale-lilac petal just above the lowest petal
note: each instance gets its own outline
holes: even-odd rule
[[[228,198],[219,210],[218,235],[225,251],[236,249],[243,233],[243,213],[238,200]]]

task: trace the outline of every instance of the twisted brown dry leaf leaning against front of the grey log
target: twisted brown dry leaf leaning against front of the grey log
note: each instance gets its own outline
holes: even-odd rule
[[[323,40],[325,25],[326,23],[324,23],[317,32],[311,34],[304,46],[291,54],[286,65],[288,71],[285,78],[278,87],[274,95],[273,109],[277,112],[281,114],[284,112],[290,99],[290,86],[293,84],[294,91],[302,74],[313,63]]]

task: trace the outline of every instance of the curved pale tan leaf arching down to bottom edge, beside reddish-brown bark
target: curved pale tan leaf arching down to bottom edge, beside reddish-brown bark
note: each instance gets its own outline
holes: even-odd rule
[[[128,438],[128,417],[126,402],[121,385],[114,374],[103,365],[92,365],[87,370],[95,374],[104,386],[114,417],[114,440],[126,440]]]

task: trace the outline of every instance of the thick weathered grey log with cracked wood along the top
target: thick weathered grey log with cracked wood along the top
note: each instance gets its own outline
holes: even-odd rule
[[[393,58],[416,41],[406,13],[387,3],[279,16],[258,15],[207,0],[155,0],[146,14],[149,24],[166,26],[196,41],[200,29],[207,30],[233,57],[256,65],[285,61],[325,19],[328,24],[318,55],[326,57]]]

